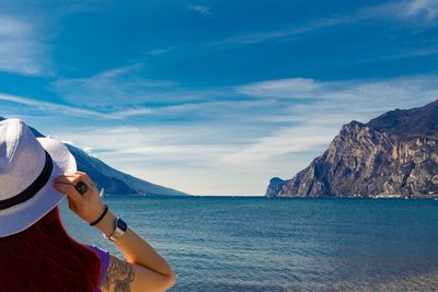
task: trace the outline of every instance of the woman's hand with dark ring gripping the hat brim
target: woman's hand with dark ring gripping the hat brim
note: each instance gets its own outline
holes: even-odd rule
[[[83,195],[74,188],[79,182],[83,182],[88,186],[88,190]],[[89,223],[97,220],[105,209],[97,188],[85,173],[76,172],[61,175],[55,179],[54,187],[67,195],[70,210]]]

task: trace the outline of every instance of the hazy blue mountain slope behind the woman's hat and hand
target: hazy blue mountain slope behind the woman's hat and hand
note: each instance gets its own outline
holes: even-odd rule
[[[0,117],[0,120],[3,120]],[[31,127],[36,137],[45,137]],[[108,166],[99,159],[89,155],[79,148],[67,144],[77,161],[78,171],[87,173],[95,183],[99,189],[104,188],[105,194],[113,195],[147,195],[147,196],[188,196],[185,192],[159,186],[131,175],[125,174]]]

